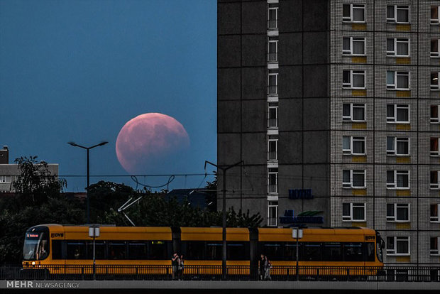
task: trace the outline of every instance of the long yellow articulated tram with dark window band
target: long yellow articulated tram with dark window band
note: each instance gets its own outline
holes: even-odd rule
[[[298,264],[302,268],[383,267],[383,246],[383,239],[373,229],[306,228],[298,240]],[[185,256],[185,273],[199,268],[199,275],[221,274],[219,227],[101,226],[94,247],[96,265],[106,268],[106,273],[110,267],[105,266],[137,266],[136,273],[139,268],[148,273],[156,267],[155,273],[167,274],[165,269],[170,268],[171,256],[177,252]],[[260,254],[268,256],[274,274],[289,274],[287,268],[296,265],[296,251],[292,229],[226,229],[226,266],[241,267],[241,274],[258,266]],[[93,241],[88,226],[41,224],[26,231],[23,268],[47,268],[50,273],[67,273],[66,268],[70,268],[73,273],[78,271],[75,266],[92,264]]]

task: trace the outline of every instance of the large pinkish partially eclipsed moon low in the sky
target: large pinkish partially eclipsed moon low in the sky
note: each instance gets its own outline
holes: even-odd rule
[[[168,156],[189,147],[189,136],[179,121],[166,114],[136,116],[119,131],[116,156],[124,170],[139,174],[163,166]]]

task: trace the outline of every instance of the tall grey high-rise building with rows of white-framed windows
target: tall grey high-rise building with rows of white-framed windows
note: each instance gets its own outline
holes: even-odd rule
[[[243,161],[227,205],[371,227],[387,263],[440,263],[439,9],[219,0],[218,163]]]

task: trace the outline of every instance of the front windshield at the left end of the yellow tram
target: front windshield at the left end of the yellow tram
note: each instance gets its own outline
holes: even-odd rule
[[[49,255],[49,232],[34,230],[26,232],[23,246],[23,259],[35,261],[47,258]]]

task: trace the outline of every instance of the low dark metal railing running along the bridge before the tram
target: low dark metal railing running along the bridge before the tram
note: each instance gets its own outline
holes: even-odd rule
[[[440,266],[227,266],[229,281],[417,281],[439,282]],[[221,266],[0,266],[0,280],[222,280]]]

